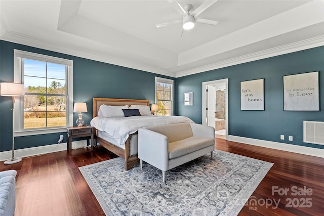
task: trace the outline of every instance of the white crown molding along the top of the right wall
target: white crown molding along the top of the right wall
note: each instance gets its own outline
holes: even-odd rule
[[[233,66],[237,64],[252,62],[260,59],[270,58],[274,56],[284,55],[288,53],[293,53],[301,50],[307,50],[307,49],[320,47],[320,46],[324,46],[324,35],[301,40],[298,42],[294,42],[292,44],[279,46],[276,48],[263,50],[260,52],[255,52],[244,56],[239,56],[236,58],[216,62],[205,66],[192,68],[190,70],[180,71],[176,73],[176,78],[182,76],[188,76],[196,73],[206,72],[210,70],[215,70],[223,67]]]

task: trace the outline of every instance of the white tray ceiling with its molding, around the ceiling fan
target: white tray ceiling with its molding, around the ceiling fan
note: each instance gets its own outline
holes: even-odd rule
[[[324,45],[323,0],[219,0],[186,36],[155,27],[182,18],[169,2],[0,0],[0,39],[172,77]]]

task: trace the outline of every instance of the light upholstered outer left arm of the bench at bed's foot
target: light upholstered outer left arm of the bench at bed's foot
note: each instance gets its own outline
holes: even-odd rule
[[[163,171],[169,166],[168,137],[149,129],[138,129],[138,158]]]

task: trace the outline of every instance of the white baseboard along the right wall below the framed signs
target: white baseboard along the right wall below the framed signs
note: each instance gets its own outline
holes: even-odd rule
[[[246,138],[246,137],[237,137],[232,135],[228,135],[227,140],[238,142],[238,143],[245,143],[254,146],[261,146],[265,148],[277,149],[282,151],[288,151],[288,152],[294,152],[298,154],[306,154],[310,156],[324,158],[324,149],[298,146],[298,145],[292,145],[287,143],[277,143],[277,142],[266,141],[266,140],[257,140],[257,139]]]

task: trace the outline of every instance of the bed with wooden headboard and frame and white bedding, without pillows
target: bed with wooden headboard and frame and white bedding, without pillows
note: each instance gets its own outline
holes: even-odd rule
[[[137,158],[137,129],[143,126],[161,125],[179,122],[193,122],[190,118],[184,116],[131,116],[104,118],[98,116],[101,105],[123,106],[123,105],[144,105],[149,106],[148,100],[137,99],[115,99],[115,98],[93,98],[93,119],[91,125],[94,126],[96,141],[98,144],[118,155],[125,160],[125,169],[131,169],[135,164],[139,163]],[[113,126],[109,123],[113,122]],[[102,124],[104,122],[105,127]],[[135,124],[134,124],[135,122]],[[151,123],[150,123],[151,122]],[[122,132],[115,132],[119,128]],[[120,133],[113,136],[112,133]],[[119,139],[120,138],[120,139]]]

